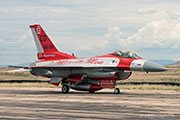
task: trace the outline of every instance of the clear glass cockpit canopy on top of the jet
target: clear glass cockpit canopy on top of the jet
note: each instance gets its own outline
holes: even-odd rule
[[[111,55],[115,55],[118,57],[124,57],[124,58],[141,58],[138,56],[135,52],[129,51],[129,50],[117,50]]]

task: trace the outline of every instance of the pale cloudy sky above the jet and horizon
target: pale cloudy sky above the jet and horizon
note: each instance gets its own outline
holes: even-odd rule
[[[37,60],[30,24],[78,57],[130,49],[180,59],[180,0],[0,0],[1,65]]]

